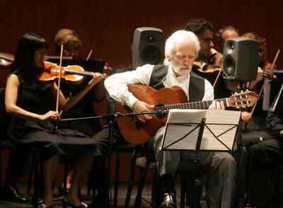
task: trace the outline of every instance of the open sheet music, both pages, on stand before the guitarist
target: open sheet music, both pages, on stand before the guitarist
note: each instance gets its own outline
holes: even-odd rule
[[[185,124],[200,123],[203,117],[206,118],[205,123],[213,134],[207,127],[204,127],[200,150],[229,151],[232,149],[236,125],[241,117],[241,112],[232,110],[170,110],[166,123],[166,134],[163,135],[163,148],[195,150],[200,127],[192,131],[197,125]],[[191,133],[188,134],[189,132]],[[177,141],[178,139],[180,141]]]

